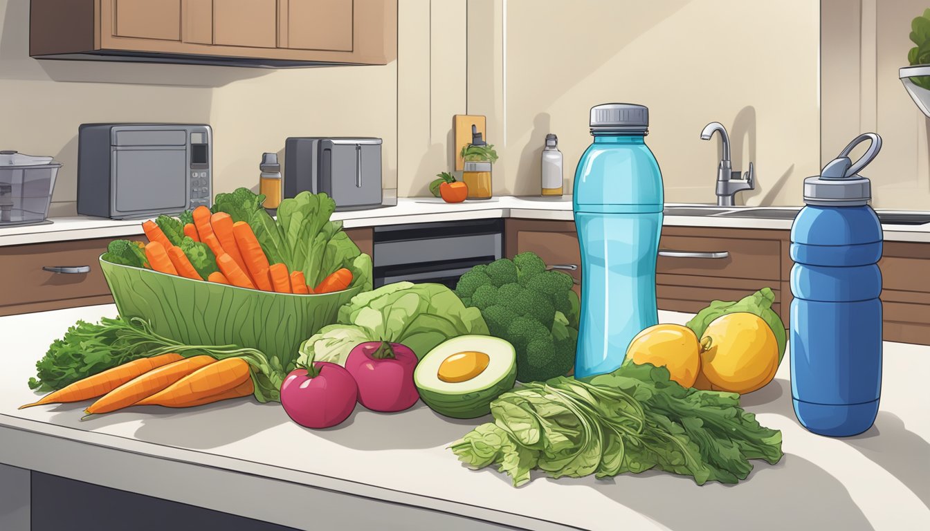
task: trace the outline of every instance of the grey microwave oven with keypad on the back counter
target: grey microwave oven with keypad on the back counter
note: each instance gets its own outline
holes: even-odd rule
[[[151,218],[211,206],[210,126],[82,124],[77,135],[77,212]]]

